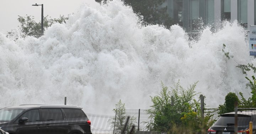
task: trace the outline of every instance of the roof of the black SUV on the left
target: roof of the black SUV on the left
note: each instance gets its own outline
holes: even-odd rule
[[[75,108],[82,109],[81,107],[74,105],[39,105],[39,104],[28,104],[28,105],[18,105],[18,106],[8,106],[6,108],[15,108],[15,109],[29,109],[29,108]]]

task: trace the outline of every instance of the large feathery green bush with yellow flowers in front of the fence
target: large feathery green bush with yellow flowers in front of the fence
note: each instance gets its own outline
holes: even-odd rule
[[[200,133],[202,128],[208,129],[213,121],[210,116],[206,116],[204,120],[201,118],[200,103],[194,99],[198,94],[194,91],[197,83],[186,90],[178,81],[171,87],[171,91],[161,83],[162,91],[151,97],[153,105],[147,110],[151,119],[146,126],[148,130],[194,134]]]

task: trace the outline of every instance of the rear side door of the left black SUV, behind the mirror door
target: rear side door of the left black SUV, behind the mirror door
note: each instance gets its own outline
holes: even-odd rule
[[[43,127],[41,133],[44,134],[68,134],[68,120],[64,120],[60,108],[40,109]]]

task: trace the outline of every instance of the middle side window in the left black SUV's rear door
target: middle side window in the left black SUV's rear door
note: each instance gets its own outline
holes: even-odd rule
[[[41,109],[42,121],[63,120],[61,109]]]

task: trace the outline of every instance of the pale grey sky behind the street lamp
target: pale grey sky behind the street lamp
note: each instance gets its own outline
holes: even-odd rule
[[[68,16],[75,12],[81,4],[96,6],[94,0],[1,0],[0,1],[0,32],[5,33],[15,29],[20,25],[18,16],[34,16],[35,21],[41,21],[41,6],[33,4],[43,4],[43,14],[51,18],[59,18],[60,15]]]

